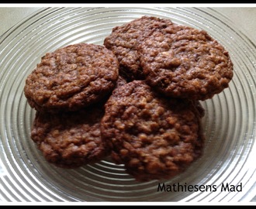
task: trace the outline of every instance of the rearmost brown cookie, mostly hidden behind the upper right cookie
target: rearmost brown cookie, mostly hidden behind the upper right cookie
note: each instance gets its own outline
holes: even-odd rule
[[[169,19],[142,16],[122,26],[116,26],[112,29],[112,33],[104,39],[106,48],[112,50],[119,60],[119,73],[127,81],[144,79],[140,67],[140,57],[137,55],[138,37],[147,36],[147,31],[151,29],[165,28],[171,24]]]

